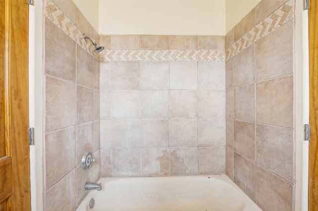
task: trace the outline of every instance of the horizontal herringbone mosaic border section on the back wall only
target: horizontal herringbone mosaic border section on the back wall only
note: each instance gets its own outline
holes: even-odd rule
[[[105,61],[225,61],[225,51],[209,50],[107,50]]]

